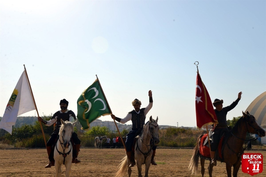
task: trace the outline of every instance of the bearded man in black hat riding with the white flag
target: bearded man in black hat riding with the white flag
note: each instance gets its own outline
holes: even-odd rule
[[[68,101],[66,99],[60,100],[60,111],[57,111],[55,114],[53,114],[51,120],[46,121],[43,120],[41,117],[38,117],[38,120],[45,124],[46,126],[51,126],[54,123],[56,123],[55,130],[53,131],[50,139],[46,143],[46,149],[48,153],[49,163],[45,166],[45,168],[50,168],[51,166],[55,165],[55,160],[53,159],[53,144],[55,143],[60,126],[62,125],[61,119],[66,121],[72,122],[73,120],[76,120],[76,115],[73,111],[68,110]],[[74,148],[73,148],[73,157],[72,157],[72,163],[80,163],[80,160],[77,159],[78,152],[80,151],[80,140],[78,139],[77,133],[73,132],[71,139],[74,142]]]

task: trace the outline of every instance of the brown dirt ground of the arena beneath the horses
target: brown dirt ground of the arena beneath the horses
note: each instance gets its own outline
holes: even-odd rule
[[[201,176],[191,175],[188,165],[192,156],[192,149],[157,149],[155,160],[157,166],[151,165],[149,176]],[[247,152],[245,152],[247,153]],[[261,153],[264,156],[263,172],[256,177],[266,176],[266,151],[253,150],[250,153]],[[47,177],[55,176],[54,167],[45,169],[48,163],[46,149],[7,149],[0,150],[0,177]],[[120,160],[124,157],[124,149],[80,149],[80,164],[73,164],[70,176],[72,177],[109,177],[115,176]],[[205,161],[205,169],[209,161]],[[145,165],[144,165],[145,166]],[[142,175],[144,176],[144,166]],[[200,166],[200,164],[199,164]],[[65,167],[62,166],[62,176],[65,176]],[[205,176],[207,170],[205,171]],[[126,175],[127,176],[127,175]],[[138,176],[137,167],[132,167],[132,175]],[[225,163],[217,163],[213,176],[227,176]],[[251,176],[243,173],[241,167],[238,176]]]

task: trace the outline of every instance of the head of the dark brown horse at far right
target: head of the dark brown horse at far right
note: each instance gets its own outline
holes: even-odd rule
[[[265,136],[265,130],[257,124],[257,121],[253,115],[250,115],[248,111],[247,114],[242,111],[242,114],[243,118],[246,120],[247,131],[249,133],[255,133],[260,137]]]

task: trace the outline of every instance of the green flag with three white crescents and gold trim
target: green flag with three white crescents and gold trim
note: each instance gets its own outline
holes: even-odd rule
[[[111,114],[98,79],[82,92],[78,98],[77,106],[77,118],[84,130],[89,130],[90,123],[97,118]]]

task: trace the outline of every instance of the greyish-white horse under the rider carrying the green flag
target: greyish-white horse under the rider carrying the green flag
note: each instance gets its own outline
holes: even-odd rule
[[[158,136],[159,126],[156,120],[150,117],[149,121],[143,126],[143,130],[139,136],[137,136],[137,142],[135,144],[135,159],[138,167],[139,177],[142,177],[142,165],[145,164],[145,177],[148,177],[149,167],[151,166],[152,146],[158,145],[160,140]],[[152,141],[151,141],[152,140]],[[122,177],[128,172],[128,177],[131,176],[130,159],[125,156],[120,165],[119,170],[116,173],[116,177]]]

